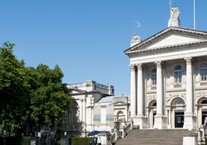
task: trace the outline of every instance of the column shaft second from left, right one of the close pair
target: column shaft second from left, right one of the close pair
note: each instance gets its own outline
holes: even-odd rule
[[[138,116],[143,116],[143,78],[142,78],[142,64],[137,64],[137,109]]]

